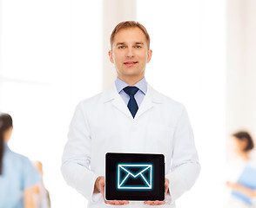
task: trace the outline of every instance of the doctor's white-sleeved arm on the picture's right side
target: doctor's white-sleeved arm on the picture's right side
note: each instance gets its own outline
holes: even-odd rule
[[[194,144],[192,127],[185,107],[182,108],[172,142],[172,166],[167,173],[172,201],[190,190],[199,176],[199,157]]]

